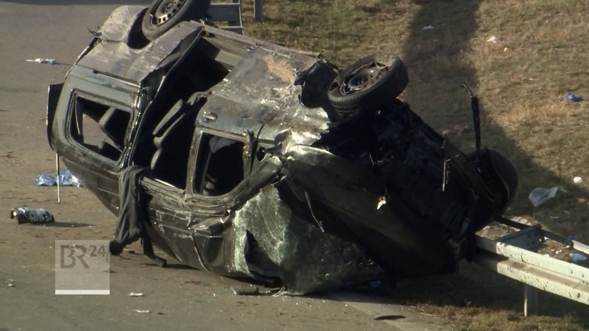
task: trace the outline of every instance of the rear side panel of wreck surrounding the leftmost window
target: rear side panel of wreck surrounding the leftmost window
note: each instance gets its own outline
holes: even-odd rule
[[[118,173],[128,150],[135,112],[133,93],[70,76],[50,143],[73,174],[113,213],[118,213]]]

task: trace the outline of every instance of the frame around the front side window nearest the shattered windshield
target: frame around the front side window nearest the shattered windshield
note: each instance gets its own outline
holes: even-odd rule
[[[239,194],[240,191],[243,191],[244,188],[246,188],[247,184],[249,183],[249,177],[250,177],[250,173],[252,170],[252,153],[241,153],[241,160],[243,161],[243,171],[244,171],[244,175],[243,175],[243,179],[240,181],[239,184],[237,184],[237,186],[233,187],[233,189],[231,189],[229,192],[221,194],[219,196],[207,196],[204,195],[202,193],[200,193],[197,188],[196,188],[196,182],[198,180],[202,180],[202,176],[204,176],[203,173],[203,153],[205,151],[205,146],[203,145],[203,140],[206,137],[206,135],[212,135],[214,137],[219,137],[219,138],[227,138],[230,140],[234,140],[237,141],[239,143],[242,143],[244,145],[244,147],[246,148],[252,148],[252,142],[247,140],[246,137],[241,136],[241,135],[233,135],[233,134],[227,134],[224,133],[222,131],[216,131],[216,130],[210,130],[210,129],[204,129],[203,127],[200,127],[197,125],[196,130],[194,130],[194,135],[195,135],[195,139],[194,139],[194,153],[193,153],[193,158],[191,158],[190,162],[190,168],[189,171],[191,171],[192,173],[190,174],[190,183],[187,183],[186,186],[186,191],[190,193],[190,196],[192,196],[193,199],[197,199],[197,200],[209,200],[209,201],[216,201],[216,203],[218,204],[224,204],[227,201],[230,201],[234,196],[236,196],[237,194]]]

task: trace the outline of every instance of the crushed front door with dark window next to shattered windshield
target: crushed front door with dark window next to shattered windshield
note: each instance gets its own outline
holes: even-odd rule
[[[233,245],[229,210],[249,184],[255,141],[247,133],[196,131],[187,183],[187,204],[195,214],[187,227],[204,269],[224,273]]]

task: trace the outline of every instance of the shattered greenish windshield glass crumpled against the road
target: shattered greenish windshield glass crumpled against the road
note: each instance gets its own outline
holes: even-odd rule
[[[246,260],[248,233],[277,268],[289,294],[306,294],[382,277],[383,270],[356,244],[322,233],[281,199],[276,185],[264,187],[233,219],[236,271],[260,279]],[[329,236],[329,238],[327,237]]]

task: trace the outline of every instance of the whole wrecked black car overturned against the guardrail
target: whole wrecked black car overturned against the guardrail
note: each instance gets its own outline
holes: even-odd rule
[[[116,9],[49,87],[49,144],[119,217],[112,254],[141,239],[160,266],[152,244],[304,294],[455,272],[511,203],[517,172],[479,147],[472,94],[465,154],[398,99],[398,57],[339,69],[167,2]]]

